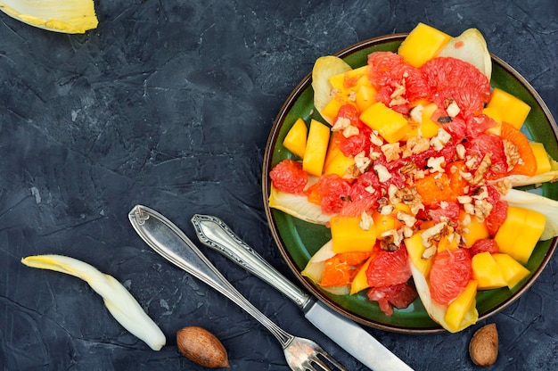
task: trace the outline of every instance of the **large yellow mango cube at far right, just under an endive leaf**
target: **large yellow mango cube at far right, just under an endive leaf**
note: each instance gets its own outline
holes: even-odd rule
[[[545,229],[543,214],[510,206],[504,223],[494,236],[499,251],[510,255],[521,264],[527,264],[537,241]]]

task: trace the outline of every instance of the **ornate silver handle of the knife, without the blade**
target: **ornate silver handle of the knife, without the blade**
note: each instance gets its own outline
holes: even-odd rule
[[[294,301],[300,309],[304,309],[311,301],[308,293],[301,291],[299,287],[273,268],[258,252],[235,235],[220,218],[195,214],[192,223],[201,243],[222,253],[254,276],[266,281],[267,284],[271,284],[291,301]]]

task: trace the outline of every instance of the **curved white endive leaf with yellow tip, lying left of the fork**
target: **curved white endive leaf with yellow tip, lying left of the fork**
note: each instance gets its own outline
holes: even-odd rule
[[[103,274],[84,261],[62,255],[34,255],[21,262],[28,267],[55,270],[83,279],[103,297],[111,315],[131,334],[147,343],[152,350],[160,350],[165,345],[165,335],[159,326],[113,276]]]

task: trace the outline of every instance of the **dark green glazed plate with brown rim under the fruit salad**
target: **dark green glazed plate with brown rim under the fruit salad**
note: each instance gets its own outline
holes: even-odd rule
[[[357,45],[349,46],[349,48],[342,50],[336,55],[345,60],[345,62],[348,62],[353,68],[357,68],[365,65],[368,54],[376,51],[396,52],[398,45],[401,44],[405,37],[405,34],[376,37]],[[529,82],[522,78],[508,64],[494,55],[492,56],[492,64],[492,86],[500,87],[516,95],[531,106],[529,117],[522,130],[532,140],[544,143],[546,151],[554,159],[558,159],[558,141],[556,140],[558,128],[556,128],[556,123],[546,104],[533,87],[529,85]],[[445,331],[431,320],[419,299],[415,300],[406,309],[395,309],[393,315],[388,317],[382,313],[376,302],[368,301],[365,291],[356,295],[332,295],[331,293],[324,292],[324,290],[300,275],[300,271],[306,266],[310,257],[331,238],[331,234],[329,229],[324,226],[309,224],[300,219],[293,218],[282,211],[269,208],[267,198],[271,181],[268,174],[275,164],[292,157],[291,153],[283,147],[282,143],[284,136],[295,120],[303,118],[309,122],[309,119],[312,118],[325,122],[314,109],[310,72],[295,87],[277,115],[268,137],[263,165],[262,186],[267,221],[284,260],[286,260],[300,282],[311,293],[316,295],[319,300],[324,301],[332,309],[361,324],[399,333],[428,334]],[[545,184],[534,192],[552,199],[558,199],[558,182]],[[527,265],[531,274],[513,292],[505,288],[478,293],[477,309],[480,314],[479,320],[496,314],[496,312],[504,309],[529,289],[552,257],[556,244],[556,238],[537,244]]]

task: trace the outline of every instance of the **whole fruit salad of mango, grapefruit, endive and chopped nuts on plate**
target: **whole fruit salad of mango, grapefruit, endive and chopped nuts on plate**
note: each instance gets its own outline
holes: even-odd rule
[[[558,202],[516,185],[554,181],[558,162],[521,126],[530,107],[490,86],[477,29],[450,37],[419,23],[397,53],[312,70],[324,120],[296,120],[269,206],[330,228],[302,271],[335,294],[366,291],[383,313],[420,298],[450,332],[478,317],[480,290],[529,276],[539,240],[558,235]]]

